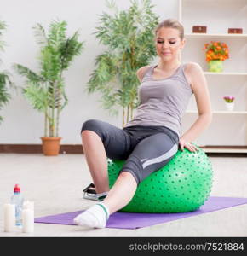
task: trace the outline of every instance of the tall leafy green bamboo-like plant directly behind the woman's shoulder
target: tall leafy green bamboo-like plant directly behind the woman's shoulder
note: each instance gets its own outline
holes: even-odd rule
[[[129,9],[119,11],[114,2],[107,2],[114,15],[99,15],[100,26],[95,35],[108,49],[96,57],[96,67],[87,84],[89,93],[101,92],[102,106],[110,113],[118,114],[119,106],[123,109],[123,126],[133,118],[138,105],[140,83],[136,71],[156,55],[154,28],[158,25],[150,0],[130,3]]]

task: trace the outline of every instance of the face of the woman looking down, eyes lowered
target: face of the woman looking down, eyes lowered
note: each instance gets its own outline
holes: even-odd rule
[[[155,38],[156,51],[163,61],[177,59],[180,49],[185,40],[181,41],[179,31],[171,27],[162,27],[158,30]]]

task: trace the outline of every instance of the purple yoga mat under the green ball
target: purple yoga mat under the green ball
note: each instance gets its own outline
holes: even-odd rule
[[[214,212],[227,207],[235,207],[238,205],[247,204],[247,198],[238,197],[218,197],[211,196],[204,205],[194,212],[181,213],[135,213],[135,212],[115,212],[109,218],[106,228],[116,229],[139,229],[155,224],[163,224],[179,218],[187,218],[203,214],[206,212]],[[35,223],[46,224],[68,224],[73,225],[73,218],[79,213],[66,212],[56,215],[49,215],[41,218],[35,218]]]

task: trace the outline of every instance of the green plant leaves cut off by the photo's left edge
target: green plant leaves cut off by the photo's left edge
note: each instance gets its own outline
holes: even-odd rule
[[[6,24],[3,21],[0,21],[0,50],[3,51],[4,41],[2,40],[3,31],[6,29]],[[0,60],[0,63],[2,61]],[[13,86],[10,79],[10,74],[8,71],[3,70],[0,72],[0,109],[3,108],[10,100],[9,88]],[[0,122],[3,121],[3,117],[0,116]]]

